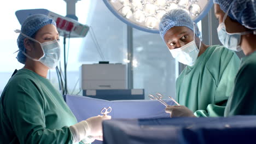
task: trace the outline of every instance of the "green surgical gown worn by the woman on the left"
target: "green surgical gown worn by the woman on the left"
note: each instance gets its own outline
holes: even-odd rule
[[[0,102],[0,143],[72,143],[77,119],[48,79],[20,69]]]

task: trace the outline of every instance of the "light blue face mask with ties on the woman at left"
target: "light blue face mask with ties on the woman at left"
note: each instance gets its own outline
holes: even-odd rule
[[[27,35],[25,35],[24,33],[22,33],[18,29],[16,29],[15,32],[16,33],[21,33],[24,37],[39,43],[42,50],[43,50],[44,55],[42,57],[40,57],[39,59],[32,58],[32,57],[28,56],[24,51],[22,51],[22,53],[27,58],[30,58],[33,61],[41,62],[42,64],[44,64],[49,69],[56,68],[57,64],[60,62],[60,55],[61,55],[60,44],[56,39],[53,40],[53,41],[46,41],[44,43],[40,43],[36,39],[28,37]]]

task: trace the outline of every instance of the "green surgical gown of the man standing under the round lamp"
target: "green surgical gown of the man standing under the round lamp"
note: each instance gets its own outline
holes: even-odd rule
[[[220,45],[208,47],[176,80],[176,100],[197,117],[224,116],[240,66],[237,55]]]

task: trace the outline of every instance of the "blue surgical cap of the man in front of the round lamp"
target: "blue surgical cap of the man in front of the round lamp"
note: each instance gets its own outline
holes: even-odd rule
[[[194,31],[194,22],[189,14],[182,9],[172,9],[168,11],[159,23],[159,33],[164,40],[165,33],[174,26],[185,26]],[[200,31],[195,25],[195,35],[200,37]]]

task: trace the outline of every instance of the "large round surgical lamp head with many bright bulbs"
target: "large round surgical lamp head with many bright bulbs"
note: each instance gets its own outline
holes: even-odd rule
[[[108,9],[127,25],[159,33],[161,17],[171,9],[181,8],[199,22],[213,5],[213,0],[103,0]]]

